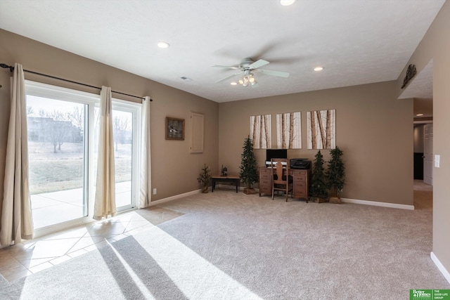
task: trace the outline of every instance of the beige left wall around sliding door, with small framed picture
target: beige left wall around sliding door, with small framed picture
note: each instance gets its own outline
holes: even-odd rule
[[[204,163],[209,164],[214,171],[217,171],[218,103],[4,30],[0,30],[0,41],[0,63],[8,65],[20,63],[25,70],[50,74],[93,86],[111,86],[113,91],[153,98],[150,116],[152,188],[157,188],[158,194],[153,195],[152,200],[198,190],[196,178]],[[3,88],[0,89],[0,195],[3,195],[10,75],[11,73],[6,69],[0,70],[0,84],[3,85]],[[32,76],[27,72],[25,72],[25,78],[99,93],[97,89],[84,88],[77,84],[68,84],[46,77]],[[113,94],[113,97],[123,98],[117,94]],[[133,98],[125,100],[136,101]],[[205,115],[205,151],[202,154],[189,154],[191,111]],[[186,119],[184,141],[165,140],[166,116]]]

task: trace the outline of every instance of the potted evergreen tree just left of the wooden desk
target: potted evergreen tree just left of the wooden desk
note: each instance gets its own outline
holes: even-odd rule
[[[247,186],[247,188],[244,188],[245,194],[255,194],[256,192],[255,189],[252,188],[252,185],[258,181],[258,168],[255,152],[253,152],[253,143],[250,136],[245,138],[243,149],[243,153],[240,155],[240,181],[245,183]]]

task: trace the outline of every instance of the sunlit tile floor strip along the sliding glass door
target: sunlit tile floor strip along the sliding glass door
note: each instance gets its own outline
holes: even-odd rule
[[[0,249],[0,275],[17,280],[181,215],[155,206],[24,241]]]

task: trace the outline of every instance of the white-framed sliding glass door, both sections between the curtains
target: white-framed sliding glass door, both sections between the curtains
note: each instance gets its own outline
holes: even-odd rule
[[[45,234],[91,221],[99,96],[32,81],[25,86],[34,228]],[[118,211],[136,207],[139,112],[140,103],[113,99]]]

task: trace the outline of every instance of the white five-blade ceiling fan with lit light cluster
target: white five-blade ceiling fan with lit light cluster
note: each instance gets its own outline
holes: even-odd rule
[[[259,67],[262,67],[264,65],[269,64],[267,60],[257,60],[253,61],[252,58],[244,58],[242,62],[240,62],[237,66],[227,66],[227,65],[213,65],[213,67],[224,67],[226,69],[232,69],[232,70],[239,70],[238,72],[231,74],[230,76],[227,76],[225,78],[219,79],[216,81],[216,83],[219,83],[221,81],[225,81],[226,79],[230,79],[231,77],[235,77],[239,74],[243,74],[243,77],[241,77],[238,82],[242,86],[252,86],[255,87],[257,85],[257,81],[255,78],[255,75],[253,72],[260,72],[263,74],[268,74],[272,76],[278,76],[278,77],[289,77],[289,73],[287,72],[280,72],[280,71],[274,71],[274,70],[266,70],[266,69],[259,69]]]

